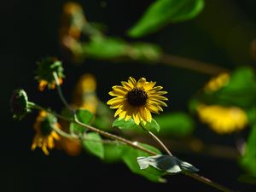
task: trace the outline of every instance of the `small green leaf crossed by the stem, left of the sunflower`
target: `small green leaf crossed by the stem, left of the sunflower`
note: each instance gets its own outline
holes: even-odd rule
[[[90,111],[82,108],[76,110],[76,115],[79,121],[85,125],[90,125],[90,122],[93,119],[93,114],[90,113]],[[77,125],[76,123],[71,123],[69,125],[69,129],[75,135],[81,135],[86,130],[83,126]]]

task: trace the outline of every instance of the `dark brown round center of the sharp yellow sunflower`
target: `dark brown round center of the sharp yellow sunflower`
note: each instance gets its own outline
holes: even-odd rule
[[[126,99],[130,105],[139,107],[146,104],[148,95],[145,90],[134,88],[127,93]]]

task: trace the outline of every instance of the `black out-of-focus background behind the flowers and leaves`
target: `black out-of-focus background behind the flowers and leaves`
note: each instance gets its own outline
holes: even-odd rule
[[[216,191],[194,179],[177,175],[168,183],[150,183],[132,174],[123,164],[105,164],[88,154],[67,156],[53,150],[49,156],[30,150],[36,113],[20,122],[9,113],[9,97],[23,88],[31,101],[61,109],[55,91],[39,92],[34,80],[35,62],[45,55],[65,58],[58,43],[61,8],[66,1],[10,0],[1,2],[1,167],[0,191]],[[151,0],[78,1],[88,20],[108,26],[111,36],[125,37],[125,31],[143,14]],[[170,25],[141,40],[160,44],[170,54],[216,63],[233,69],[254,65],[249,46],[255,38],[256,2],[251,0],[207,0],[206,8],[194,20]],[[205,74],[166,66],[138,63],[112,64],[87,60],[82,66],[64,61],[67,79],[63,90],[71,98],[73,85],[82,73],[93,73],[98,95],[108,100],[108,91],[129,76],[157,80],[169,92],[168,111],[188,110],[189,97],[210,77]],[[70,100],[69,100],[70,101]],[[202,128],[196,131],[203,141],[235,145],[237,135],[219,137]],[[253,191],[253,185],[237,182],[241,169],[236,160],[204,155],[177,154],[201,169],[201,175],[231,189]]]

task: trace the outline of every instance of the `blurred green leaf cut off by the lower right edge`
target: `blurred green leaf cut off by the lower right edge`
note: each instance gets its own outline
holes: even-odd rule
[[[241,166],[249,174],[256,177],[256,122],[254,123],[250,135],[247,139],[246,153],[241,158]]]

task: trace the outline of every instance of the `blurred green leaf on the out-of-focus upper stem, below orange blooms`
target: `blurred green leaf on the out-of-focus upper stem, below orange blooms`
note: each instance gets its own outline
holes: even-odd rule
[[[118,38],[95,37],[89,43],[84,44],[86,55],[97,59],[113,59],[124,56],[127,45]]]

